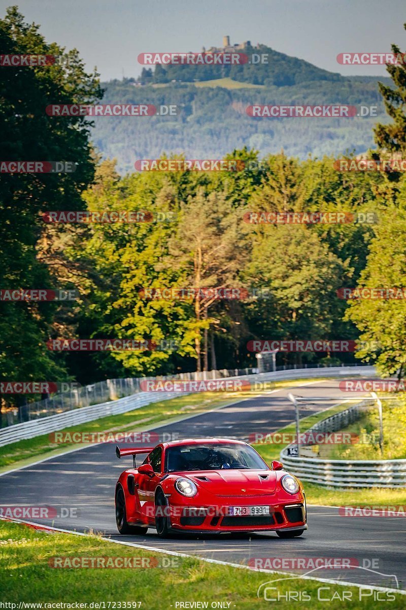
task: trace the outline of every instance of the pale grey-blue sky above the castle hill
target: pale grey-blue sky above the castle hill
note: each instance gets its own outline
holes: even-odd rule
[[[77,48],[102,81],[136,77],[141,52],[201,51],[250,40],[345,76],[385,66],[342,66],[341,52],[404,51],[405,0],[0,0],[18,4],[47,41]]]

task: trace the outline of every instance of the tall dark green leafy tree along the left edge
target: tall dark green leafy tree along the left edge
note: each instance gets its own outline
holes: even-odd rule
[[[38,26],[24,23],[16,7],[0,20],[0,46],[5,54],[61,55],[65,49],[48,44]],[[95,74],[86,74],[77,51],[72,65],[38,68],[9,67],[0,71],[2,159],[66,160],[77,163],[74,173],[2,174],[0,184],[1,285],[5,289],[68,288],[60,284],[58,265],[41,251],[40,213],[83,209],[81,193],[93,179],[94,162],[84,118],[48,117],[52,102],[91,102],[101,90]],[[64,278],[65,279],[65,278]],[[35,381],[66,378],[60,359],[46,348],[55,315],[53,303],[1,303],[0,375]],[[60,315],[63,317],[63,308]]]

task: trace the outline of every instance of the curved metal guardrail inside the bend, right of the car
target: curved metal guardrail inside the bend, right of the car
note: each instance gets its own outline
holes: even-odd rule
[[[361,402],[318,422],[309,432],[335,432],[345,428],[359,417],[365,403]],[[406,487],[406,459],[394,460],[340,460],[304,458],[281,451],[284,467],[302,481],[325,487]]]

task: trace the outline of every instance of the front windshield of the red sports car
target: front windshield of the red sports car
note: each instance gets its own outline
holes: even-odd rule
[[[176,445],[166,450],[165,471],[183,470],[269,470],[265,462],[249,445]]]

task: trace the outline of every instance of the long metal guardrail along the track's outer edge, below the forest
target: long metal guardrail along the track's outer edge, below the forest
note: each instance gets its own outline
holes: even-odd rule
[[[374,367],[331,367],[331,368],[304,368],[270,373],[256,373],[254,375],[236,375],[241,379],[250,381],[278,381],[282,379],[334,377],[341,375],[374,375]],[[233,379],[233,377],[231,377]],[[180,396],[180,392],[138,392],[132,396],[119,398],[102,404],[93,404],[89,407],[72,409],[49,417],[42,417],[30,422],[18,423],[8,428],[0,429],[0,447],[15,443],[18,440],[32,439],[41,434],[57,432],[70,426],[91,422],[107,415],[117,415],[127,411],[134,411],[146,404],[157,403],[160,400]]]

